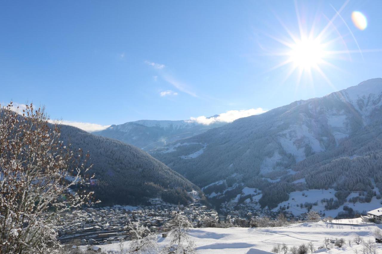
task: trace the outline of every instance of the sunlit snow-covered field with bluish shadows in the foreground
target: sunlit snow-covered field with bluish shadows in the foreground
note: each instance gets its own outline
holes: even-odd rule
[[[356,219],[355,219],[356,220]],[[345,223],[346,221],[337,221]],[[354,223],[354,221],[353,221]],[[355,249],[361,251],[362,245],[351,243],[356,236],[361,236],[365,241],[374,241],[373,231],[377,225],[338,225],[325,222],[306,222],[292,224],[277,228],[193,228],[189,231],[191,239],[195,242],[197,253],[201,254],[260,254],[268,253],[277,244],[287,244],[288,247],[308,244],[312,241],[317,252],[325,252],[323,249],[324,238],[344,238],[346,244],[342,248],[333,246],[328,253],[354,253]],[[382,226],[379,226],[382,227]],[[157,236],[158,244],[163,247],[170,241],[170,236],[162,238]],[[129,242],[125,242],[125,248]],[[100,245],[102,251],[120,253],[118,243]],[[289,252],[288,252],[289,253]],[[377,244],[377,253],[382,253],[382,245]]]

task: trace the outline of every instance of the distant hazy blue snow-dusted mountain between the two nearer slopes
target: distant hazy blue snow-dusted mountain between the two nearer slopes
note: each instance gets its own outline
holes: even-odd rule
[[[204,125],[193,120],[139,120],[120,125],[111,125],[107,129],[94,132],[93,134],[114,138],[148,151],[158,146],[164,146],[166,143],[206,132],[223,124],[225,123],[215,122],[210,125]]]

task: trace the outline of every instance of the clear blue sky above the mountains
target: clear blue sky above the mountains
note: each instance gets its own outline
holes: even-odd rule
[[[100,125],[272,109],[382,77],[380,10],[381,1],[2,1],[0,102]],[[321,74],[274,68],[290,57],[283,42],[296,44],[287,30],[300,38],[314,27],[315,37],[328,23]]]

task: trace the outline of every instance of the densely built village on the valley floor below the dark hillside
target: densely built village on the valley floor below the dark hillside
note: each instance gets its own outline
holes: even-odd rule
[[[77,245],[130,240],[133,222],[139,222],[151,232],[163,231],[174,214],[185,215],[193,227],[200,227],[206,218],[219,219],[216,211],[199,203],[186,207],[154,204],[135,209],[123,206],[91,207],[63,215],[58,227],[58,239],[62,243],[75,242]]]

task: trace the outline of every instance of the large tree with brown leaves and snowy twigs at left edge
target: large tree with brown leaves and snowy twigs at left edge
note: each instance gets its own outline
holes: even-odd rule
[[[60,214],[91,198],[70,189],[87,182],[89,154],[60,141],[44,109],[12,109],[0,109],[0,253],[54,253]]]

